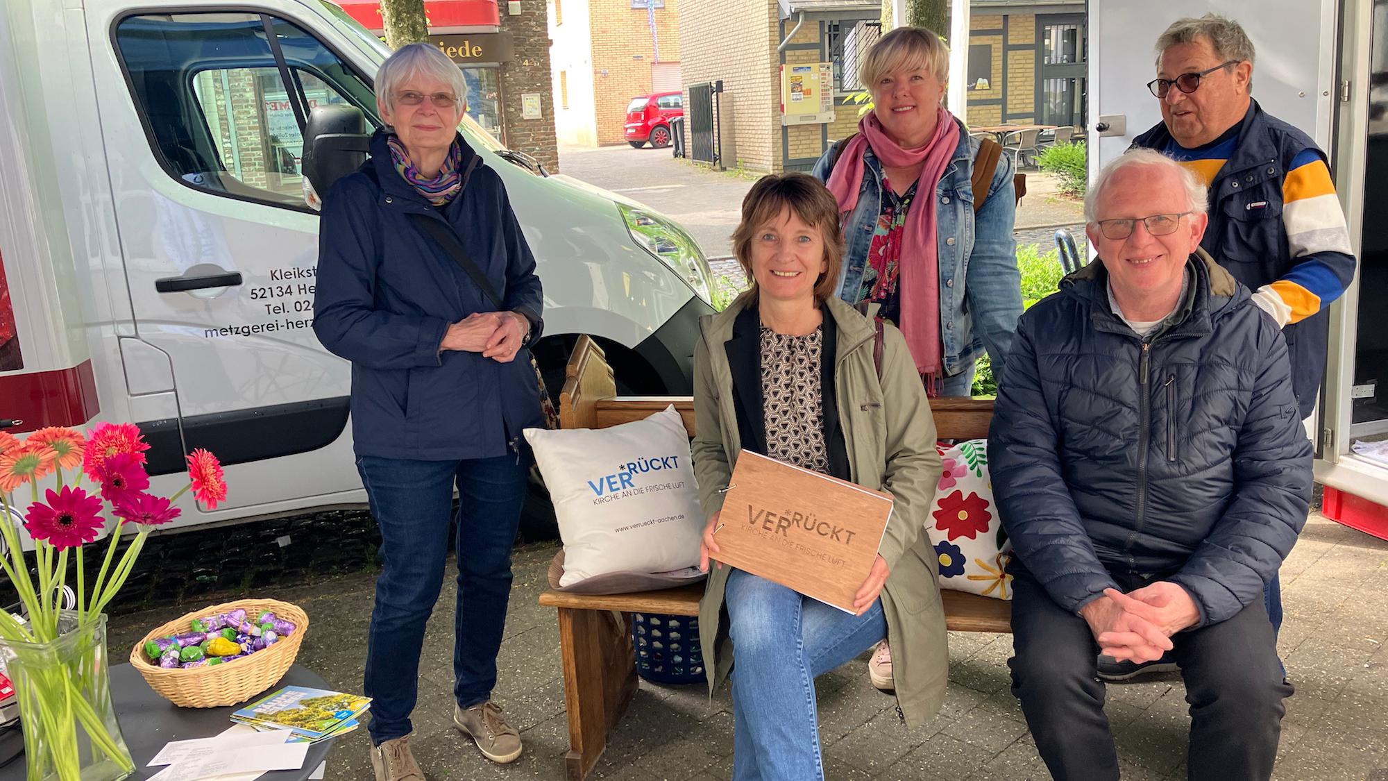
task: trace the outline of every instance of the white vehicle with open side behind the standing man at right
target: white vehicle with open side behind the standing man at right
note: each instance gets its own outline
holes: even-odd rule
[[[1253,39],[1253,97],[1330,154],[1359,260],[1331,306],[1330,350],[1310,422],[1324,511],[1388,538],[1388,0],[1167,0],[1088,4],[1091,175],[1160,121],[1145,83],[1156,36],[1178,17],[1238,19]]]

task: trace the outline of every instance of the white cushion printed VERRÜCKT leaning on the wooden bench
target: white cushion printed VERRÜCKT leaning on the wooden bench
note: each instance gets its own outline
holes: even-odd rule
[[[611,428],[527,428],[525,436],[559,521],[561,586],[698,566],[704,518],[688,434],[673,404]]]

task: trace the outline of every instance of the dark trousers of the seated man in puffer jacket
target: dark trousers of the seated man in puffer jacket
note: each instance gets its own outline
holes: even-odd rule
[[[1103,714],[1098,643],[1030,573],[1013,567],[1012,693],[1051,775],[1058,781],[1117,781],[1119,759]],[[1123,591],[1146,585],[1115,573]],[[1292,688],[1283,680],[1263,600],[1228,621],[1177,632],[1174,656],[1191,713],[1192,781],[1266,781],[1277,757]]]

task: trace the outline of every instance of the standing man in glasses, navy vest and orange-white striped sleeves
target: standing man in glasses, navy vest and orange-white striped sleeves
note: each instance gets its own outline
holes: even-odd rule
[[[1252,99],[1253,43],[1238,22],[1216,14],[1177,19],[1156,51],[1156,78],[1146,86],[1162,104],[1162,124],[1133,146],[1176,158],[1209,188],[1201,246],[1283,328],[1292,393],[1306,418],[1326,370],[1326,310],[1355,277],[1326,153]],[[1276,573],[1264,593],[1276,635],[1283,624]],[[1148,664],[1101,660],[1099,675],[1116,681],[1174,667],[1169,656]]]

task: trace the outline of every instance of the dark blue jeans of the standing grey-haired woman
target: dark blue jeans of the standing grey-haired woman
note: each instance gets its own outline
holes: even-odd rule
[[[408,735],[419,688],[425,623],[439,602],[448,531],[458,524],[454,698],[491,698],[511,598],[511,546],[520,523],[529,460],[516,456],[415,461],[358,456],[357,470],[380,524],[380,577],[366,639],[365,693],[372,743]],[[458,516],[452,517],[452,486]]]

